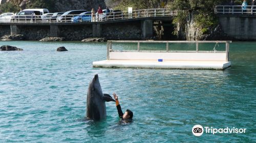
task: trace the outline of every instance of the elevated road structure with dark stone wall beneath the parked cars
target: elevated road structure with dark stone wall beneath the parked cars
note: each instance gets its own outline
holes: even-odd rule
[[[144,10],[141,10],[144,11]],[[0,37],[7,34],[23,34],[28,40],[45,37],[64,37],[66,40],[82,40],[89,37],[108,39],[159,39],[172,38],[172,20],[176,15],[165,9],[153,9],[140,14],[122,14],[117,20],[95,22],[9,22],[0,23]],[[161,13],[160,13],[161,12]]]

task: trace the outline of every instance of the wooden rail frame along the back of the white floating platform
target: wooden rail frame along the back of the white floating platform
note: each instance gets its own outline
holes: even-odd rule
[[[226,62],[229,61],[229,43],[232,41],[130,41],[130,40],[109,40],[106,44],[106,59],[110,60],[110,52],[155,52],[155,53],[226,53]],[[137,43],[137,50],[113,50],[113,43]],[[143,51],[140,50],[140,43],[166,43],[166,51]],[[196,51],[171,51],[169,43],[196,43]],[[199,51],[199,43],[226,43],[226,51]]]

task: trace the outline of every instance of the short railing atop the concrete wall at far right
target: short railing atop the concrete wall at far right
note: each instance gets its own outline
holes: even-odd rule
[[[256,6],[216,6],[215,14],[256,14]]]

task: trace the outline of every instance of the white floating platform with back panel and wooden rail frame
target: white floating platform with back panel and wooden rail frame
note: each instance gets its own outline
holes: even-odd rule
[[[137,42],[138,50],[113,50],[112,43]],[[166,51],[141,51],[140,43],[166,42]],[[199,51],[198,43],[226,43],[226,51]],[[98,68],[217,69],[231,66],[231,41],[108,41],[107,60],[93,62]],[[169,51],[169,43],[196,43],[195,51]]]

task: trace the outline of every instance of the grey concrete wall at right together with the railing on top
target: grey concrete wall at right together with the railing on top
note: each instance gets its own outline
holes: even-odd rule
[[[215,14],[227,36],[235,40],[256,40],[256,7],[216,6]]]

